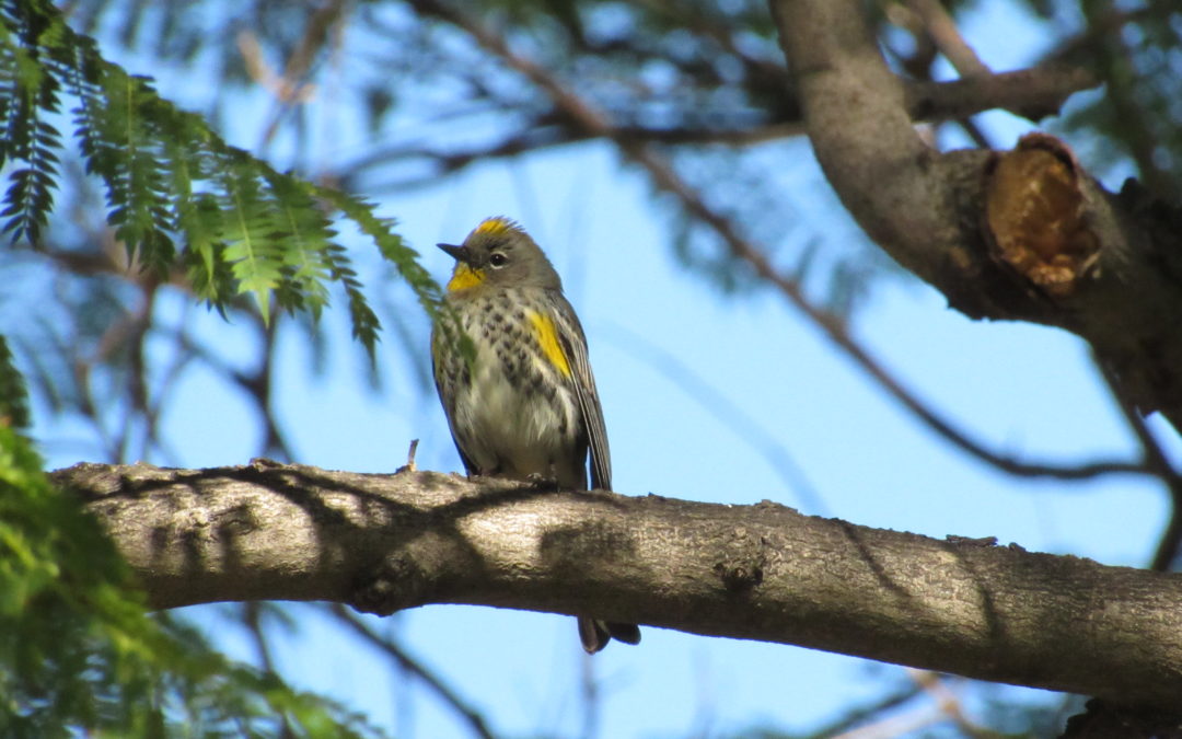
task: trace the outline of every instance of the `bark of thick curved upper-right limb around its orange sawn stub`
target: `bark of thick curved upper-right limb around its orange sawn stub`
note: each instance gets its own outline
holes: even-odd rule
[[[999,155],[940,153],[921,140],[862,4],[771,6],[817,160],[866,233],[970,317],[1028,320],[1083,337],[1142,411],[1160,410],[1182,429],[1180,210],[1134,186],[1108,193],[1065,148],[1050,147],[1077,190],[1067,203],[1076,231],[1066,249],[1083,236],[1095,254],[1070,285],[1048,287],[1034,279],[1045,272],[1008,262],[987,227]],[[1045,190],[1028,195],[1031,202],[1044,197]]]

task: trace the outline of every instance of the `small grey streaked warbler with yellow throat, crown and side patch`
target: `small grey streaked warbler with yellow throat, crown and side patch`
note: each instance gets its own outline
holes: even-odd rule
[[[586,338],[563,281],[515,221],[489,218],[460,246],[446,300],[474,351],[446,320],[431,331],[435,387],[469,475],[541,477],[564,488],[611,490],[611,456]],[[589,654],[611,638],[635,644],[631,623],[578,617]]]

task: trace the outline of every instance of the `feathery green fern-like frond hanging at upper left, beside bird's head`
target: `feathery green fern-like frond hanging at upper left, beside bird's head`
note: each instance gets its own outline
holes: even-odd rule
[[[132,264],[167,275],[182,268],[196,294],[223,309],[254,297],[264,320],[273,305],[319,316],[339,281],[353,336],[372,356],[381,322],[336,239],[327,206],[361,226],[430,312],[439,287],[417,254],[371,206],[277,171],[227,144],[194,114],[160,97],[151,82],[103,59],[48,2],[0,11],[0,162],[15,167],[4,200],[5,231],[39,246],[53,208],[63,92],[77,101],[74,131],[86,171],[100,179],[106,221]]]

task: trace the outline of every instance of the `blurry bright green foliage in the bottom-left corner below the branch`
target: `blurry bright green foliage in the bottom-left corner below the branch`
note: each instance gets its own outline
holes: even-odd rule
[[[0,426],[0,735],[375,735],[150,618],[110,540]]]

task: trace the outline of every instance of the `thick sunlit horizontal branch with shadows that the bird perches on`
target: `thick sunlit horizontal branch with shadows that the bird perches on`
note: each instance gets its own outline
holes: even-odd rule
[[[53,473],[158,608],[586,612],[1176,709],[1182,576],[726,506],[259,460]],[[643,648],[643,647],[642,647]]]

